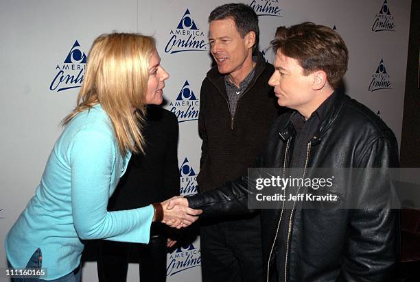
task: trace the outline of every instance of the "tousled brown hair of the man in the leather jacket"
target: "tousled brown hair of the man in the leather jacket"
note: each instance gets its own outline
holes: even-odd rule
[[[349,51],[340,34],[325,25],[305,22],[277,27],[273,51],[281,50],[303,68],[303,74],[325,71],[329,85],[336,89],[347,71]]]

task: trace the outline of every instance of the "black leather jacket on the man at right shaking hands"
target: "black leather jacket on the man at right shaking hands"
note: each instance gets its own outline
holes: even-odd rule
[[[292,111],[272,126],[257,167],[288,166],[292,146]],[[393,132],[371,110],[345,94],[334,105],[308,144],[309,168],[388,168],[398,166]],[[288,152],[290,156],[291,153]],[[377,187],[378,179],[364,179]],[[203,216],[249,212],[248,176],[188,198]],[[395,209],[293,209],[281,224],[290,225],[285,277],[277,277],[275,255],[281,209],[261,209],[261,234],[268,281],[387,281],[397,260],[398,219]],[[271,253],[271,254],[270,254]],[[267,267],[270,266],[270,270]],[[269,274],[268,274],[269,272]],[[266,277],[267,278],[267,277]]]

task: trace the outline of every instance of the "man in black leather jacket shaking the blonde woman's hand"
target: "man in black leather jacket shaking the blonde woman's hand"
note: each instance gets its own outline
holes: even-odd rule
[[[272,47],[277,55],[269,84],[279,105],[290,112],[273,124],[257,167],[281,172],[299,168],[303,177],[310,177],[309,169],[315,168],[398,166],[393,132],[337,90],[347,71],[348,51],[336,31],[313,23],[279,27]],[[200,208],[203,215],[241,214],[250,211],[248,200],[258,193],[253,181],[244,176],[172,204]],[[343,202],[353,200],[354,191],[361,193],[356,196],[362,202],[372,200],[366,194],[389,194],[385,177],[364,173],[358,181],[318,193],[335,192]],[[278,209],[261,209],[267,281],[388,281],[397,260],[399,214],[385,202],[353,209],[321,203],[318,207],[324,208],[305,209],[295,198],[289,209],[283,208],[284,199]]]

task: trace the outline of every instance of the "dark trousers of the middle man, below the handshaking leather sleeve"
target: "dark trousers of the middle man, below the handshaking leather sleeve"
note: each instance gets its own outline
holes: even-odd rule
[[[259,215],[202,220],[202,282],[264,281]]]

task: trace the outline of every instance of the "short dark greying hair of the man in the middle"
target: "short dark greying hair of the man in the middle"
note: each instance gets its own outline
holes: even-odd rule
[[[224,20],[232,18],[235,22],[237,31],[244,38],[250,31],[255,32],[255,44],[253,52],[258,48],[259,42],[259,27],[258,16],[250,6],[242,3],[229,3],[221,5],[211,11],[209,16],[209,23],[217,20]]]

